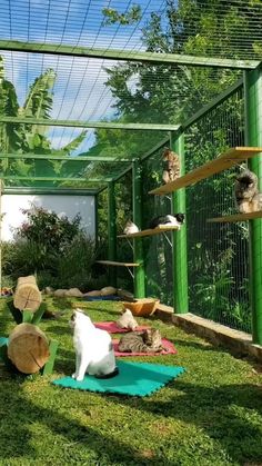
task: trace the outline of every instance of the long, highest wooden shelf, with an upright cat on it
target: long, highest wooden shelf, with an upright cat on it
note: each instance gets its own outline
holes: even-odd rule
[[[262,152],[261,147],[235,147],[229,149],[226,152],[221,153],[214,160],[210,160],[209,162],[195,168],[194,170],[178,178],[177,180],[149,191],[149,194],[160,196],[168,195],[169,192],[173,192],[177,189],[194,185],[195,182],[209,178],[212,175],[226,170],[228,168],[233,167],[235,163],[246,160],[260,152]]]

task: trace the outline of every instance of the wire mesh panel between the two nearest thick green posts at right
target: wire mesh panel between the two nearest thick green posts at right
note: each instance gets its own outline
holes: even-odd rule
[[[244,146],[242,92],[210,111],[187,132],[187,172],[226,148]],[[248,222],[206,222],[236,212],[236,166],[187,189],[190,310],[251,330]]]

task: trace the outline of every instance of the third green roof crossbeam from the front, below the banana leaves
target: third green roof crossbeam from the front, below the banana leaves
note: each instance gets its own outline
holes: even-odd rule
[[[3,153],[0,152],[1,159],[24,159],[24,160],[66,160],[66,161],[104,161],[104,162],[131,162],[133,158],[128,157],[109,157],[109,156],[62,156],[56,153]]]

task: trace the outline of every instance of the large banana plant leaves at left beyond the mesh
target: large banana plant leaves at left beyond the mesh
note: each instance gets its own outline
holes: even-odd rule
[[[53,86],[56,72],[50,68],[40,77],[36,78],[30,86],[23,106],[19,106],[14,86],[4,77],[3,59],[0,57],[0,116],[21,117],[33,119],[49,119],[53,105]],[[3,160],[1,171],[8,175],[20,176],[54,176],[66,171],[68,176],[78,170],[83,170],[83,163],[67,165],[51,160],[51,156],[70,155],[75,150],[85,137],[85,131],[61,149],[53,149],[48,137],[49,127],[29,123],[4,123],[0,122],[0,151],[6,153],[47,153],[50,160]]]

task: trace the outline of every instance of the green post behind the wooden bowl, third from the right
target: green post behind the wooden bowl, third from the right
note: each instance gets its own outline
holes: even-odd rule
[[[133,222],[142,229],[142,166],[138,160],[132,162],[132,194]],[[143,244],[141,238],[133,239],[133,259],[134,262],[140,264],[140,267],[134,267],[134,296],[135,298],[144,298],[145,277]]]

